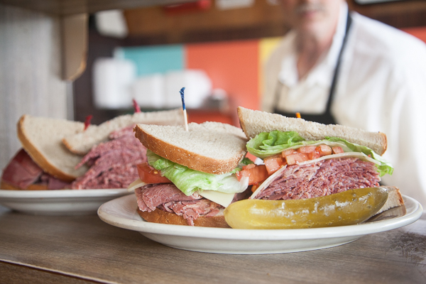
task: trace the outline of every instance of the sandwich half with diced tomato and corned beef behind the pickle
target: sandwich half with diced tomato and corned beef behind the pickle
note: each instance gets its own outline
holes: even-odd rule
[[[237,173],[249,178],[253,200],[302,200],[346,190],[379,187],[393,167],[381,155],[386,135],[341,125],[324,125],[239,107],[249,153],[260,160]],[[380,212],[403,204],[389,187]]]

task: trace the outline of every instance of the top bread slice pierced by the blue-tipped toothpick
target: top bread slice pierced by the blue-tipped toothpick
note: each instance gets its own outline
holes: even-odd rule
[[[137,124],[135,136],[163,158],[204,173],[229,173],[246,154],[247,138],[241,129],[207,121],[184,126]]]

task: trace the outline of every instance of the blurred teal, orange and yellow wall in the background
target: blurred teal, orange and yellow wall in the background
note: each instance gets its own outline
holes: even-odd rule
[[[426,42],[426,28],[409,28]],[[137,75],[169,70],[201,69],[212,80],[213,89],[224,89],[235,106],[259,109],[263,85],[262,69],[280,38],[239,40],[185,45],[121,48],[121,58],[136,63]],[[211,116],[203,119],[212,119]],[[214,119],[214,118],[213,118]],[[197,119],[195,119],[197,120]],[[226,119],[214,119],[229,122]]]

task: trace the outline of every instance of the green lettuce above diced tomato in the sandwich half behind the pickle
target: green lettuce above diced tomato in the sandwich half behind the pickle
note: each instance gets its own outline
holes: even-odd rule
[[[392,175],[393,173],[392,165],[384,160],[381,155],[378,155],[366,146],[350,143],[337,137],[326,137],[324,140],[320,141],[306,141],[305,138],[302,138],[296,131],[262,132],[247,143],[247,151],[258,158],[264,159],[270,155],[281,153],[285,149],[299,148],[308,145],[317,146],[320,144],[326,144],[330,147],[340,146],[345,152],[364,153],[380,163],[380,165],[376,165],[379,175]]]

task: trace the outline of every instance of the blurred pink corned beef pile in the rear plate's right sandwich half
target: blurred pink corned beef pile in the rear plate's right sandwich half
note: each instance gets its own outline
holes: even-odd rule
[[[82,158],[76,168],[84,163],[90,168],[72,182],[72,189],[126,188],[138,179],[136,165],[146,162],[146,148],[135,138],[133,126],[114,131],[109,138]]]

